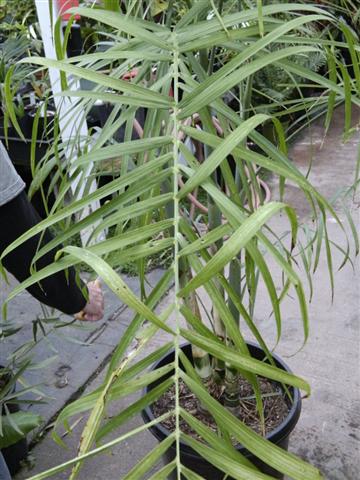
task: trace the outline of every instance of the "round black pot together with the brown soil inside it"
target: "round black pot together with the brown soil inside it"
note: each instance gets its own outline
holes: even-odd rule
[[[254,344],[249,344],[249,350],[253,358],[263,360],[264,353],[260,347]],[[191,357],[191,346],[184,345],[182,347],[183,352],[185,355],[192,360]],[[284,362],[277,357],[276,355],[273,356],[275,363],[278,367],[287,370],[290,372],[289,368],[284,364]],[[161,360],[154,365],[154,369],[160,368],[165,366],[166,364],[170,363],[174,359],[174,352],[169,352],[165,355]],[[170,376],[169,373],[167,376]],[[163,377],[154,384],[151,384],[147,387],[147,391],[150,391],[152,388],[156,387],[159,383],[163,382]],[[288,401],[286,395],[283,394],[281,391],[281,387],[276,382],[268,381],[267,379],[260,379],[261,388],[263,391],[264,397],[264,406],[265,406],[265,418],[267,419],[266,423],[266,438],[270,440],[272,443],[275,443],[277,446],[284,448],[287,450],[289,437],[294,429],[301,410],[301,397],[300,392],[297,389],[289,388],[290,394],[292,395],[293,402],[291,403]],[[260,424],[256,414],[256,407],[255,401],[253,398],[249,398],[253,396],[251,386],[247,385],[246,382],[242,385],[243,392],[243,405],[244,411],[242,413],[241,420],[244,421],[248,426],[253,428],[255,431],[260,431]],[[188,391],[188,389],[184,386],[180,386],[181,390],[181,399],[180,402],[186,410],[189,411],[193,416],[196,416],[202,422],[204,422],[207,426],[212,428],[214,431],[217,431],[217,427],[211,416],[204,413],[201,408],[199,408],[198,401],[194,398],[193,394]],[[213,391],[210,392],[215,398],[221,399],[222,392],[219,391],[218,388],[214,388]],[[270,400],[269,400],[270,399]],[[274,401],[275,399],[275,401]],[[166,405],[166,402],[167,405]],[[169,390],[165,394],[165,396],[159,399],[154,405],[147,407],[143,412],[142,416],[146,422],[154,420],[155,417],[164,413],[164,411],[168,411],[172,408],[171,402],[174,402],[174,392]],[[191,432],[189,426],[183,422],[181,423],[181,428],[189,434],[194,434]],[[169,434],[170,431],[173,429],[171,425],[171,419],[169,423],[162,425],[155,425],[154,427],[150,428],[152,434],[160,441],[164,440]],[[194,435],[195,436],[195,435]],[[195,436],[196,438],[196,436]],[[277,472],[273,468],[269,467],[265,463],[263,463],[260,459],[256,458],[252,455],[249,451],[247,451],[242,445],[235,445],[236,449],[239,450],[243,455],[247,456],[249,460],[251,460],[254,465],[256,465],[260,471],[266,473],[268,475],[273,476],[274,478],[282,479],[283,475],[280,472]],[[175,456],[175,447],[172,446],[168,449],[168,451],[164,455],[165,463],[169,463],[173,460]],[[205,479],[209,480],[222,480],[224,478],[224,473],[214,467],[211,463],[209,463],[204,458],[200,457],[194,450],[192,450],[188,445],[181,442],[181,462],[183,465],[187,466],[190,470],[198,473]],[[175,479],[176,476],[169,477],[171,479]],[[228,478],[228,480],[231,480]]]

